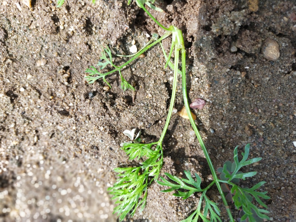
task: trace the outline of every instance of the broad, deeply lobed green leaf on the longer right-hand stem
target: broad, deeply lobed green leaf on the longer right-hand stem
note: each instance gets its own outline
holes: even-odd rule
[[[269,197],[265,195],[267,192],[255,191],[256,189],[260,188],[260,186],[265,184],[265,182],[262,181],[250,189],[241,188],[237,185],[240,179],[245,180],[247,177],[255,176],[255,174],[257,173],[257,172],[242,173],[239,171],[239,169],[242,168],[243,166],[247,166],[261,160],[261,158],[253,158],[253,159],[247,160],[249,155],[249,150],[250,150],[250,144],[247,144],[245,147],[245,152],[242,153],[243,159],[239,162],[237,147],[236,147],[234,149],[234,162],[231,163],[230,161],[226,161],[223,165],[222,170],[219,170],[221,172],[221,175],[220,175],[221,180],[214,179],[204,189],[200,188],[201,178],[200,176],[197,175],[197,173],[195,173],[196,181],[194,181],[194,179],[191,177],[191,174],[189,171],[184,171],[188,179],[183,179],[183,178],[179,179],[176,176],[170,175],[169,173],[165,173],[165,175],[168,176],[168,178],[177,182],[177,184],[171,183],[165,178],[160,177],[162,181],[157,181],[157,182],[160,185],[170,187],[169,189],[163,190],[162,192],[171,192],[175,190],[178,193],[175,193],[173,195],[177,197],[183,197],[183,199],[187,199],[194,192],[202,192],[197,209],[182,222],[197,221],[198,217],[202,218],[202,220],[205,222],[212,222],[217,220],[222,221],[220,218],[221,211],[218,208],[217,204],[210,201],[206,196],[207,190],[210,189],[210,187],[213,186],[214,184],[218,184],[217,187],[220,186],[222,191],[229,192],[229,194],[227,194],[228,197],[226,196],[226,200],[228,202],[234,202],[234,205],[237,209],[242,208],[243,213],[240,213],[240,215],[242,216],[242,218],[240,218],[241,221],[246,220],[249,222],[260,222],[263,219],[269,219],[269,217],[264,214],[264,213],[269,213],[267,210],[258,208],[252,203],[252,197],[254,197],[255,200],[260,205],[267,208],[266,204],[264,204],[259,198],[261,197],[263,199],[269,199]],[[220,183],[222,184],[220,185]],[[194,187],[188,186],[187,184],[192,185]],[[231,189],[229,189],[229,185],[232,187]],[[184,190],[189,190],[189,191],[184,192]],[[220,194],[222,197],[221,192]],[[202,201],[205,202],[203,206],[203,213],[201,212]],[[210,213],[210,220],[207,218],[208,213]],[[229,217],[231,218],[232,215],[229,215]],[[231,221],[234,221],[234,219],[232,219]]]

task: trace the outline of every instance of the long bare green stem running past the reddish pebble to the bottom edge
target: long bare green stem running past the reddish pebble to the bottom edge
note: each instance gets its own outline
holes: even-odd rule
[[[179,36],[179,38],[183,40],[183,35],[182,36]],[[223,203],[224,203],[224,205],[226,207],[226,211],[227,211],[227,213],[229,215],[230,221],[231,222],[234,222],[234,218],[232,217],[232,214],[231,214],[231,212],[229,210],[229,206],[228,206],[227,200],[226,200],[226,198],[224,196],[224,193],[222,191],[222,188],[221,188],[221,186],[219,184],[219,181],[218,181],[219,179],[218,179],[218,176],[216,174],[216,171],[215,171],[215,168],[213,166],[213,163],[211,161],[210,155],[207,152],[207,149],[205,147],[204,142],[202,141],[202,138],[200,136],[200,132],[198,131],[197,126],[194,123],[194,120],[192,118],[191,111],[190,111],[190,108],[189,108],[189,103],[188,103],[188,98],[187,98],[187,91],[186,91],[186,51],[185,51],[185,48],[184,48],[184,44],[183,44],[181,53],[182,53],[182,57],[181,57],[181,59],[182,59],[182,90],[183,90],[184,105],[185,105],[187,114],[189,116],[189,120],[190,120],[190,123],[192,125],[192,128],[193,128],[193,130],[195,132],[195,135],[196,135],[196,137],[197,137],[197,139],[198,139],[198,141],[200,143],[200,146],[202,147],[202,151],[205,154],[207,163],[208,163],[208,165],[210,167],[210,170],[211,170],[211,173],[213,175],[213,180],[215,181],[215,184],[216,184],[216,186],[217,186],[217,188],[219,190],[219,193],[221,195],[221,198],[223,200]]]

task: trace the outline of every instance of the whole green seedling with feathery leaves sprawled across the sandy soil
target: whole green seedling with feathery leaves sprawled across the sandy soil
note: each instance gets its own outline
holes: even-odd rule
[[[165,173],[168,178],[175,181],[176,183],[171,183],[164,177],[160,177],[162,181],[157,181],[161,185],[169,186],[170,188],[167,190],[164,190],[163,192],[170,192],[173,190],[178,191],[178,193],[174,194],[178,197],[183,197],[184,199],[188,198],[194,192],[202,192],[197,209],[192,213],[188,218],[186,218],[184,221],[186,222],[196,222],[198,218],[200,217],[203,221],[209,222],[209,221],[221,221],[220,218],[220,209],[218,208],[218,204],[211,201],[207,196],[206,192],[208,189],[210,189],[211,186],[214,184],[217,186],[218,191],[221,195],[221,199],[226,207],[226,212],[229,215],[230,221],[234,222],[234,218],[231,214],[231,211],[229,209],[227,201],[231,200],[234,202],[234,205],[237,209],[242,208],[242,211],[240,213],[240,220],[242,221],[250,221],[250,222],[258,222],[259,219],[268,219],[268,216],[264,213],[268,213],[267,210],[257,208],[252,203],[252,198],[254,197],[255,200],[262,205],[263,207],[267,207],[260,199],[259,197],[263,199],[268,199],[269,197],[266,196],[266,192],[258,192],[255,191],[260,186],[262,186],[265,182],[260,182],[253,186],[252,188],[241,188],[237,184],[239,182],[239,179],[245,179],[250,176],[254,176],[256,172],[249,172],[249,173],[242,173],[238,171],[240,168],[246,165],[250,165],[252,163],[258,162],[261,158],[253,158],[251,160],[247,161],[247,157],[249,154],[249,148],[250,145],[247,144],[245,147],[245,153],[242,153],[243,159],[239,162],[238,161],[238,155],[237,155],[237,147],[234,149],[234,163],[226,162],[223,165],[223,168],[218,169],[218,172],[221,173],[221,179],[218,179],[218,176],[215,172],[214,166],[211,162],[210,156],[207,152],[207,149],[202,141],[202,138],[200,136],[200,133],[197,129],[197,126],[194,123],[194,120],[192,118],[189,103],[187,99],[187,92],[186,92],[186,50],[184,47],[184,40],[181,30],[179,30],[177,27],[171,25],[169,28],[164,27],[160,22],[158,22],[151,14],[150,12],[145,8],[144,5],[147,5],[148,7],[162,12],[163,10],[160,8],[157,8],[153,5],[155,0],[135,0],[136,4],[143,9],[147,15],[163,30],[165,30],[165,34],[157,39],[156,36],[153,36],[152,40],[149,41],[149,43],[144,46],[139,52],[136,54],[133,54],[127,62],[124,64],[117,66],[113,63],[112,60],[112,53],[111,50],[106,47],[102,50],[102,55],[100,57],[100,61],[97,64],[99,66],[100,70],[103,70],[105,67],[109,66],[113,68],[113,70],[108,71],[106,73],[99,72],[96,67],[91,66],[91,69],[87,69],[86,73],[89,73],[89,76],[86,77],[86,80],[89,83],[94,83],[94,81],[102,78],[103,81],[110,86],[110,84],[106,81],[106,77],[112,73],[118,72],[120,78],[121,78],[121,87],[123,90],[131,89],[135,90],[133,86],[128,83],[122,75],[122,70],[126,65],[133,62],[137,57],[139,57],[141,54],[143,54],[146,50],[154,46],[155,44],[160,44],[163,50],[164,57],[166,59],[165,68],[169,66],[173,69],[174,75],[173,75],[173,87],[172,87],[172,95],[171,95],[171,101],[170,101],[170,108],[168,110],[168,116],[167,120],[165,122],[165,126],[163,129],[163,132],[160,136],[160,139],[157,142],[152,142],[149,144],[141,144],[140,143],[140,132],[137,134],[136,138],[134,139],[134,133],[136,129],[133,129],[132,131],[124,131],[124,134],[127,135],[131,141],[120,144],[123,148],[123,150],[126,152],[126,154],[130,157],[129,160],[140,160],[142,157],[144,157],[144,162],[141,162],[138,167],[128,167],[128,168],[115,168],[115,172],[118,173],[118,179],[117,182],[114,184],[114,186],[109,188],[110,194],[113,195],[112,199],[116,199],[116,206],[114,208],[114,213],[118,213],[120,215],[119,220],[122,221],[125,216],[130,213],[131,216],[134,215],[136,212],[137,207],[140,207],[140,210],[143,210],[146,204],[147,200],[147,188],[148,185],[151,184],[153,181],[157,181],[160,170],[163,165],[163,148],[162,143],[164,136],[166,134],[166,131],[168,129],[168,125],[170,122],[170,118],[173,111],[175,96],[176,96],[176,86],[177,86],[177,77],[178,74],[182,77],[182,91],[183,91],[183,98],[184,98],[184,105],[186,108],[187,113],[189,114],[189,120],[192,125],[192,128],[197,136],[198,141],[200,142],[201,148],[205,154],[207,163],[209,165],[210,171],[213,175],[213,181],[205,188],[201,188],[201,178],[195,174],[195,180],[192,178],[189,171],[185,171],[185,175],[187,179],[184,178],[178,178],[176,176],[170,175],[168,173]],[[64,0],[58,0],[58,6],[60,7],[63,4]],[[93,1],[94,2],[94,1]],[[128,4],[131,3],[131,0],[128,0]],[[161,41],[168,36],[172,35],[172,44],[170,47],[170,52],[167,55],[165,50],[163,49],[163,46],[161,44]],[[152,43],[151,43],[152,42]],[[174,63],[170,62],[171,55],[174,51]],[[181,51],[181,70],[178,70],[178,63],[179,63],[179,53]],[[107,57],[107,55],[108,57]],[[121,55],[120,55],[121,56]],[[111,86],[110,86],[111,88]],[[231,187],[231,189],[229,188]],[[187,192],[184,192],[186,191]],[[224,192],[228,192],[227,199],[224,195]],[[204,204],[203,204],[204,202]],[[202,213],[203,208],[203,213]],[[210,219],[207,218],[207,215],[210,214]],[[258,219],[259,218],[259,219]]]

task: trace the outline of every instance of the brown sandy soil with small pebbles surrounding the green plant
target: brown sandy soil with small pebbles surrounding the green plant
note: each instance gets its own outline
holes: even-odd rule
[[[257,5],[258,3],[258,5]],[[165,13],[152,14],[184,33],[190,100],[207,101],[197,124],[215,168],[250,143],[250,157],[262,157],[242,183],[266,181],[261,191],[273,221],[296,221],[296,2],[268,0],[159,0]],[[126,129],[157,141],[171,95],[171,70],[155,46],[127,67],[135,85],[120,89],[118,75],[87,84],[84,70],[97,64],[101,45],[129,54],[162,30],[126,0],[36,0],[0,2],[0,221],[116,221],[107,188],[113,168],[131,163],[119,144]],[[258,6],[258,10],[256,9]],[[271,58],[264,50],[272,42]],[[164,41],[169,50],[170,39]],[[234,47],[235,46],[235,47]],[[279,51],[277,51],[279,47]],[[278,54],[280,53],[280,55]],[[277,58],[279,55],[279,58]],[[115,62],[122,62],[120,59]],[[183,106],[181,79],[175,108]],[[210,130],[211,129],[211,130]],[[213,131],[214,130],[214,131]],[[190,135],[189,120],[173,115],[164,142],[164,172],[181,176],[210,171]],[[149,186],[147,206],[126,221],[181,221],[197,206]],[[208,196],[227,214],[218,191]],[[231,206],[234,218],[237,210]]]

